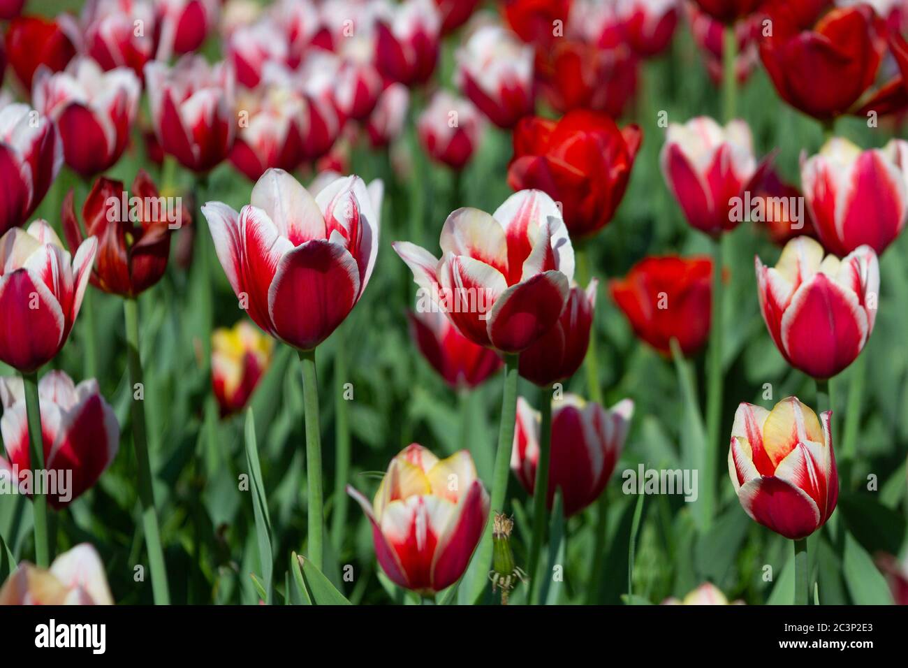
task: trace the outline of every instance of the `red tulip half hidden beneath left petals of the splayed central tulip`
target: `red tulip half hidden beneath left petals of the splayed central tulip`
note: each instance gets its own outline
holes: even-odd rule
[[[501,368],[494,351],[474,344],[437,310],[408,314],[419,352],[454,390],[478,387]]]

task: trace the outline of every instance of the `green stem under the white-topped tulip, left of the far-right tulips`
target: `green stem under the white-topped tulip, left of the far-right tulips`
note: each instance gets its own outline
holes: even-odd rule
[[[713,241],[713,306],[709,333],[708,379],[706,384],[706,471],[704,477],[710,489],[715,488],[716,462],[718,444],[721,441],[719,430],[722,425],[722,392],[724,374],[722,370],[723,344],[723,295],[722,267],[724,265],[725,235]],[[712,522],[712,508],[706,517],[706,525]]]

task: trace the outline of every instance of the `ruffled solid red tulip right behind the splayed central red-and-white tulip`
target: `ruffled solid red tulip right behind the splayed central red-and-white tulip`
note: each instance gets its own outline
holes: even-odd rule
[[[514,131],[508,184],[547,193],[561,204],[571,238],[587,239],[615,215],[641,141],[637,125],[618,130],[594,112],[525,118]]]

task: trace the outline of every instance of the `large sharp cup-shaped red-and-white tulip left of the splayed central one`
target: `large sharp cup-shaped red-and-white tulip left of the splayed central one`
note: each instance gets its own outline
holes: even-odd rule
[[[218,259],[255,324],[299,350],[321,344],[369,283],[379,249],[381,184],[340,178],[313,197],[269,169],[238,214],[202,206]]]

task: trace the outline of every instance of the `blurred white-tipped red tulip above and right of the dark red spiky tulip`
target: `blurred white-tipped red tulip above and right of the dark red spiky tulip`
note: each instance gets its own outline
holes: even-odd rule
[[[230,65],[208,65],[202,56],[183,55],[173,68],[146,65],[154,132],[164,152],[198,173],[227,157],[236,126],[233,84]]]

